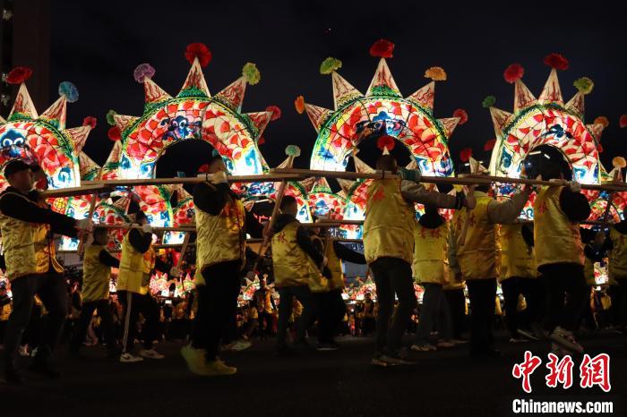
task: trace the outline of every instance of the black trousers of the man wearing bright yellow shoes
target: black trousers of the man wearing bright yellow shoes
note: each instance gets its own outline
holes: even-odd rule
[[[204,268],[205,285],[198,285],[198,312],[193,323],[192,346],[207,351],[207,360],[218,356],[219,343],[237,314],[240,291],[240,260]]]

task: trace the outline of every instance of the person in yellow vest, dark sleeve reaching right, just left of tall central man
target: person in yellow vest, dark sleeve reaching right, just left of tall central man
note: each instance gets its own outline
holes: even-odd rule
[[[328,236],[329,229],[315,227],[310,229],[314,244],[318,251],[327,259],[327,266],[323,269],[323,285],[317,285],[312,291],[318,299],[318,347],[319,351],[334,351],[339,349],[335,341],[335,334],[342,319],[346,316],[346,302],[342,298],[344,291],[344,274],[341,261],[356,264],[365,264],[365,257],[357,251],[348,249],[344,244],[332,240]]]

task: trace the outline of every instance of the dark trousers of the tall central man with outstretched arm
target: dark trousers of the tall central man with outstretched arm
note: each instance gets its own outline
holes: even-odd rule
[[[375,260],[370,268],[373,271],[379,302],[374,352],[396,354],[399,352],[402,336],[409,326],[411,314],[417,307],[411,266],[405,260],[384,257]],[[390,325],[395,294],[399,298],[399,305]]]

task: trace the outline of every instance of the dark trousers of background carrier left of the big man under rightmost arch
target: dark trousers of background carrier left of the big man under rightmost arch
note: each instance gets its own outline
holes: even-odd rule
[[[511,337],[518,337],[519,328],[528,328],[542,317],[544,292],[537,278],[510,277],[502,281],[502,295],[505,298],[505,323]],[[524,315],[518,311],[519,295],[523,294],[527,308]]]

